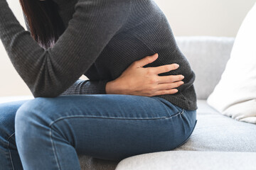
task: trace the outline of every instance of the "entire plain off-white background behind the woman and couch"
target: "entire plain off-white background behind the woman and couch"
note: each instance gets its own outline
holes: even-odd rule
[[[7,0],[25,27],[18,0]],[[175,36],[235,37],[255,0],[155,0],[169,19]],[[0,42],[0,96],[31,95]],[[83,77],[86,79],[86,77]]]

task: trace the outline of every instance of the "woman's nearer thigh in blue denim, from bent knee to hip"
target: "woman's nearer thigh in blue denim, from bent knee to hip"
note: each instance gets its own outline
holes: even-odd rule
[[[35,98],[20,109],[26,118],[47,123],[53,139],[63,137],[78,154],[100,159],[121,160],[174,149],[194,125],[193,114],[185,116],[182,108],[146,96]]]

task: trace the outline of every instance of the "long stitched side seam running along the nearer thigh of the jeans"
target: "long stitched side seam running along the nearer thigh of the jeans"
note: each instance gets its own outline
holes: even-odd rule
[[[120,120],[156,120],[156,119],[169,119],[169,118],[174,118],[176,115],[181,115],[182,112],[178,112],[175,115],[168,115],[164,117],[159,117],[159,118],[117,118],[117,117],[104,117],[104,116],[91,116],[91,115],[69,115],[69,116],[64,116],[60,117],[53,122],[51,122],[48,126],[52,126],[53,123],[58,122],[59,120],[63,120],[65,118],[105,118],[105,119],[120,119]]]

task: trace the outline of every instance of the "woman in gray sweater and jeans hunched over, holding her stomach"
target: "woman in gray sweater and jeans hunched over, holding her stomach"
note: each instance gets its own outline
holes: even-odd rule
[[[0,106],[1,169],[80,169],[78,154],[121,160],[188,140],[195,74],[154,1],[20,2],[30,31],[1,0],[0,36],[35,98]]]

